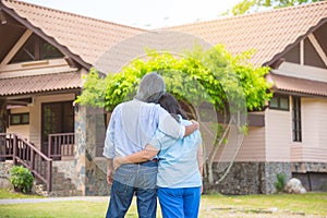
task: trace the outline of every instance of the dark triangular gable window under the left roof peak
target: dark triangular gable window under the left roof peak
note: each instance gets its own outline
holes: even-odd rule
[[[32,35],[10,63],[62,58],[63,55],[36,35]]]

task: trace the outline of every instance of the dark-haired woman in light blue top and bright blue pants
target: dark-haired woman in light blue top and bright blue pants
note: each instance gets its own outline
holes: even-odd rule
[[[159,104],[182,125],[191,123],[172,95],[165,94]],[[159,160],[157,193],[162,217],[197,217],[203,170],[199,131],[195,131],[182,140],[174,140],[157,131],[144,150],[114,159],[114,167],[146,161],[154,158],[156,154]]]

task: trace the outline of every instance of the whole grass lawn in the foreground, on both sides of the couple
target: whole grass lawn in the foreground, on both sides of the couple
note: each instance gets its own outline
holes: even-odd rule
[[[0,190],[0,198],[27,197]],[[1,199],[0,199],[1,202]],[[52,202],[0,205],[0,217],[105,217],[108,202]],[[126,217],[137,217],[135,201]],[[160,211],[158,211],[160,218]],[[327,193],[303,195],[203,195],[199,217],[327,217]]]

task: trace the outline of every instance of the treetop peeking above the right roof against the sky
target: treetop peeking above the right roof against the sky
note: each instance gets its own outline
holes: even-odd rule
[[[243,0],[235,4],[231,11],[227,11],[223,15],[240,15],[251,12],[258,12],[265,9],[278,9],[283,7],[294,7],[303,3],[312,3],[320,0]]]

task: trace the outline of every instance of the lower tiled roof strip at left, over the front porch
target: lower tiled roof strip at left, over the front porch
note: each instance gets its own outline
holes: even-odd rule
[[[0,80],[0,96],[75,89],[82,87],[78,72],[20,76]]]

